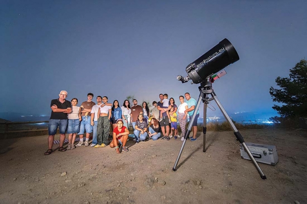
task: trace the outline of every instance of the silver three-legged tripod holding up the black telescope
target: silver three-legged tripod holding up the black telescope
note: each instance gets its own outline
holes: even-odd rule
[[[184,146],[185,146],[185,144],[187,142],[187,139],[189,138],[189,135],[190,135],[190,132],[191,132],[191,129],[192,129],[192,124],[193,124],[193,122],[195,120],[197,111],[199,110],[199,107],[200,107],[200,104],[201,104],[202,101],[204,102],[204,126],[203,126],[204,144],[203,144],[203,152],[205,152],[205,134],[206,134],[206,128],[207,128],[206,127],[207,104],[209,103],[209,101],[214,100],[215,103],[217,104],[217,106],[219,107],[219,109],[221,110],[222,114],[224,115],[226,121],[230,124],[232,130],[234,131],[234,134],[235,134],[237,140],[239,140],[239,142],[242,144],[242,146],[244,147],[245,151],[249,155],[251,161],[254,163],[258,173],[260,174],[260,177],[262,179],[266,179],[266,176],[263,174],[263,172],[260,169],[259,165],[256,163],[256,160],[254,159],[252,153],[247,148],[241,133],[238,131],[238,129],[236,128],[236,126],[234,125],[234,123],[231,121],[230,117],[226,113],[225,109],[223,108],[222,104],[217,99],[217,96],[215,95],[215,93],[214,93],[214,91],[212,89],[212,83],[209,81],[209,79],[207,79],[206,82],[201,82],[201,86],[199,86],[198,88],[200,90],[200,96],[199,96],[199,98],[197,100],[197,104],[196,104],[196,107],[194,109],[194,113],[192,115],[192,119],[189,122],[188,129],[187,129],[186,134],[184,136],[184,142],[183,142],[182,147],[180,149],[180,152],[179,152],[179,155],[177,157],[177,160],[176,160],[176,162],[174,164],[173,171],[177,170],[176,169],[177,164],[178,164],[178,162],[180,160],[180,156],[181,156],[183,148],[184,148]],[[211,98],[207,97],[207,95],[209,95],[209,94],[212,96]],[[205,95],[205,97],[204,97],[204,95]]]

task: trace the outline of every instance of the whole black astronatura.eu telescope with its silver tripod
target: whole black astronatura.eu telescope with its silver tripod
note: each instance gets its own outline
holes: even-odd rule
[[[206,129],[207,129],[207,124],[206,124],[207,104],[209,104],[209,101],[214,100],[218,108],[221,110],[222,114],[224,115],[225,120],[229,123],[237,140],[242,144],[245,152],[248,154],[251,161],[254,163],[258,173],[260,174],[260,177],[262,179],[266,179],[266,176],[264,175],[261,168],[257,164],[254,156],[252,155],[251,151],[248,149],[247,145],[245,144],[245,141],[241,133],[238,131],[235,124],[232,122],[231,118],[226,113],[224,107],[218,100],[212,88],[212,82],[214,82],[215,79],[218,79],[226,74],[225,70],[223,71],[221,70],[238,60],[239,60],[239,55],[236,49],[233,47],[230,41],[228,41],[227,39],[224,39],[186,67],[186,72],[188,73],[187,77],[182,77],[180,75],[177,76],[177,80],[181,81],[182,83],[192,80],[191,83],[201,83],[201,85],[198,87],[200,91],[200,96],[197,100],[196,105],[194,106],[193,115],[190,116],[190,122],[187,128],[186,134],[184,135],[184,142],[180,149],[177,160],[174,164],[173,171],[177,170],[177,164],[183,152],[183,148],[186,144],[186,141],[190,139],[191,129],[192,129],[194,121],[197,120],[196,115],[200,108],[201,102],[204,102],[203,152],[206,151],[205,134],[206,134]],[[209,98],[209,96],[211,96],[211,98]]]

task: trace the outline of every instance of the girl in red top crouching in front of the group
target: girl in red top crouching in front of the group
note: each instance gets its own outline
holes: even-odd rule
[[[116,124],[117,126],[113,130],[113,140],[110,143],[110,147],[115,147],[117,154],[121,153],[121,150],[128,152],[129,150],[126,148],[126,142],[129,130],[124,126],[122,119],[118,119]]]

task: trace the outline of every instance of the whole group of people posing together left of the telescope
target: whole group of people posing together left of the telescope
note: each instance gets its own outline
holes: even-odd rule
[[[189,93],[180,96],[180,105],[177,107],[174,98],[168,100],[167,94],[159,94],[160,101],[153,101],[153,109],[150,112],[147,102],[142,106],[138,101],[133,99],[133,106],[130,106],[129,100],[125,100],[120,107],[119,102],[114,100],[113,104],[108,103],[106,96],[97,96],[97,104],[93,102],[93,93],[88,93],[87,101],[81,106],[77,106],[78,99],[72,98],[66,100],[67,91],[62,90],[59,98],[51,100],[51,117],[48,126],[48,147],[45,155],[50,155],[57,128],[60,133],[58,151],[73,150],[79,146],[91,146],[95,148],[105,147],[108,145],[110,126],[112,128],[112,140],[109,144],[115,148],[117,153],[121,151],[128,152],[126,142],[128,136],[134,137],[136,144],[140,141],[149,139],[170,140],[181,138],[184,141],[186,132],[187,117],[190,119],[196,107],[196,100],[191,98]],[[186,102],[184,101],[186,98]],[[178,111],[178,115],[177,115]],[[197,140],[197,119],[199,112],[192,125],[193,136],[191,141]],[[178,121],[177,121],[178,119]],[[181,136],[178,134],[177,122],[180,123]],[[129,124],[132,123],[133,134],[129,134]],[[92,144],[89,144],[90,133],[93,132]],[[63,147],[65,134],[68,134],[68,146]],[[84,141],[85,134],[85,141]],[[76,136],[79,135],[80,141],[74,145]],[[174,135],[174,136],[173,136]]]

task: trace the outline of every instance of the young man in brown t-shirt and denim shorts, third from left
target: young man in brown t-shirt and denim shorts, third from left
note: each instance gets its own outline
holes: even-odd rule
[[[93,132],[93,126],[91,125],[91,112],[93,106],[95,106],[95,103],[92,101],[93,97],[93,93],[88,93],[88,100],[84,101],[80,106],[82,121],[80,124],[80,132],[78,133],[80,141],[76,144],[76,147],[80,147],[81,145],[89,146],[90,133]],[[83,142],[84,130],[86,131],[85,142]]]

